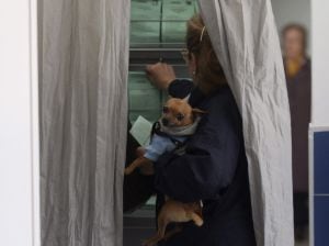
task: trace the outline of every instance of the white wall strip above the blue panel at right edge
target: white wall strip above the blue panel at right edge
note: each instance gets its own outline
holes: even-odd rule
[[[329,1],[311,2],[313,126],[329,126]]]

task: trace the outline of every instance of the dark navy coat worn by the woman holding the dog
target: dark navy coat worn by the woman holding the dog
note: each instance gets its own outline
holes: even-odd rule
[[[184,98],[206,111],[195,134],[186,141],[186,153],[162,155],[155,186],[159,193],[182,202],[203,200],[204,225],[192,222],[161,246],[254,246],[248,163],[241,118],[229,87],[209,96],[191,81],[175,80],[172,97]]]

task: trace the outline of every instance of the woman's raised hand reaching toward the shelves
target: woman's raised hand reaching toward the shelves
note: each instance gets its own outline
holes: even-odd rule
[[[161,90],[167,90],[169,85],[175,79],[172,66],[164,63],[147,65],[146,74],[151,83]]]

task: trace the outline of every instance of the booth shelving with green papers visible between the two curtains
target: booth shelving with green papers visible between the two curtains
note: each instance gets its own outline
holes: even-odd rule
[[[141,146],[148,143],[151,125],[160,118],[168,98],[167,92],[149,82],[145,68],[148,64],[163,62],[173,66],[179,78],[189,77],[181,51],[185,46],[186,21],[196,12],[196,0],[132,0],[128,113],[133,125],[131,134]],[[128,139],[128,145],[135,139]],[[137,174],[133,174],[126,180],[125,189],[128,190],[136,182],[137,190],[141,190],[147,183],[140,179]],[[144,192],[147,192],[147,187],[144,188]],[[129,203],[125,204],[125,209],[129,209],[124,216],[125,246],[134,245],[155,233],[156,198],[150,197],[136,208],[136,201],[143,201],[147,194],[129,193],[127,201],[124,199],[124,203]]]

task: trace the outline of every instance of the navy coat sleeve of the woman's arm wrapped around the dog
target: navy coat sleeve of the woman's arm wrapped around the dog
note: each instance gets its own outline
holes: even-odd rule
[[[215,101],[197,131],[186,142],[185,154],[167,153],[155,165],[155,186],[182,202],[216,199],[235,176],[242,143],[237,110]]]

